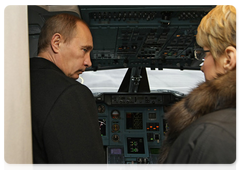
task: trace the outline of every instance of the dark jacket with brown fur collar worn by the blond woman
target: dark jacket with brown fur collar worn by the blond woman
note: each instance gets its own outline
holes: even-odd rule
[[[240,69],[201,83],[165,116],[159,169],[240,168]]]

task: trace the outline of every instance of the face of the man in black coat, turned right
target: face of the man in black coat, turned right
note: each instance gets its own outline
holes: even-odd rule
[[[68,42],[60,44],[60,69],[66,76],[78,79],[87,67],[92,65],[90,52],[93,49],[92,34],[89,28],[77,22],[76,34]]]

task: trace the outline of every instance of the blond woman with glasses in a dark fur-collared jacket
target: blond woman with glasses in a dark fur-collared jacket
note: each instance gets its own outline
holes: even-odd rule
[[[159,170],[240,169],[240,1],[222,0],[198,27],[200,84],[167,113]]]

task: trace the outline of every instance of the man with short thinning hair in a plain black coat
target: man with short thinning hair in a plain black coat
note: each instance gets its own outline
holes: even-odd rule
[[[94,97],[76,81],[92,48],[78,17],[59,14],[42,28],[30,61],[34,170],[106,169]]]

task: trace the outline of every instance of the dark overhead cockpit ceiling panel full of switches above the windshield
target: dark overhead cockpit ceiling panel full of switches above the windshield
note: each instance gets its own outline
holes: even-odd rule
[[[197,27],[220,0],[38,1],[47,3],[48,8],[64,4],[79,8],[79,16],[93,35],[89,70],[134,67],[199,70],[202,61],[194,58]],[[37,35],[33,36],[37,41]]]

